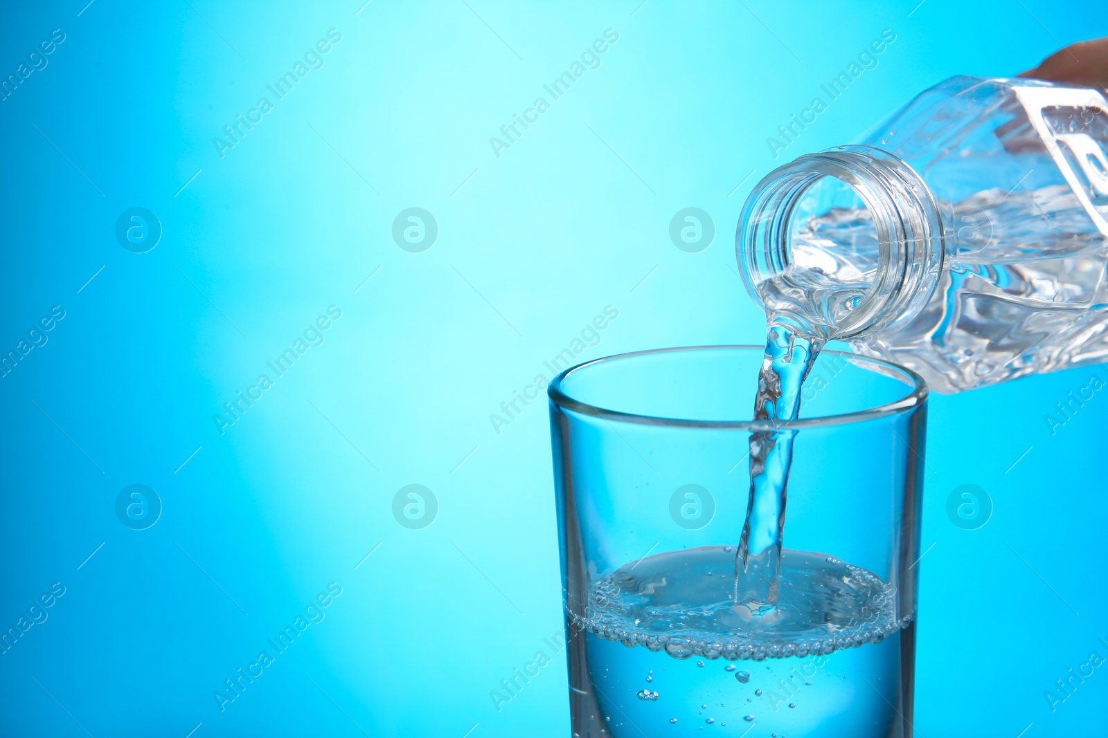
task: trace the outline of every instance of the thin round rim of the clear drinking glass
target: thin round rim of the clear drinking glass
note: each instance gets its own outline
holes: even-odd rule
[[[883,403],[875,407],[868,407],[860,410],[852,410],[850,413],[837,413],[834,415],[823,415],[815,417],[801,417],[794,420],[694,420],[690,418],[670,418],[670,417],[659,417],[653,415],[639,415],[635,413],[625,413],[623,410],[614,410],[606,407],[598,407],[596,405],[582,402],[574,397],[571,397],[565,389],[563,384],[565,380],[574,372],[581,372],[595,364],[603,364],[606,362],[613,362],[616,360],[630,358],[634,356],[648,356],[653,354],[666,354],[676,353],[684,351],[709,351],[709,350],[737,350],[737,351],[758,351],[765,352],[765,346],[758,346],[753,344],[711,344],[711,345],[700,345],[700,346],[673,346],[669,349],[648,349],[646,351],[630,351],[623,354],[613,354],[612,356],[603,356],[601,358],[594,358],[588,362],[583,362],[576,366],[571,366],[570,368],[563,371],[557,376],[555,376],[550,385],[546,387],[546,395],[550,397],[551,402],[558,407],[574,410],[576,413],[582,413],[584,415],[589,415],[593,417],[599,417],[606,420],[618,420],[622,423],[634,423],[636,425],[653,425],[653,426],[668,426],[675,428],[725,428],[732,430],[748,430],[748,432],[781,432],[781,430],[793,430],[800,428],[819,428],[835,425],[845,425],[849,423],[861,423],[864,420],[872,420],[876,418],[888,417],[890,415],[896,415],[911,410],[913,408],[922,407],[924,401],[926,401],[930,389],[927,383],[924,378],[913,372],[906,366],[901,366],[900,364],[894,364],[892,362],[886,362],[882,358],[873,358],[871,356],[861,356],[848,351],[833,351],[824,350],[820,352],[820,355],[828,354],[831,356],[842,356],[850,362],[864,362],[869,364],[876,364],[886,370],[892,370],[893,372],[900,374],[905,384],[907,384],[907,394],[905,394],[900,399],[894,399],[889,403]],[[888,373],[885,373],[888,376]],[[891,377],[895,378],[895,377]]]

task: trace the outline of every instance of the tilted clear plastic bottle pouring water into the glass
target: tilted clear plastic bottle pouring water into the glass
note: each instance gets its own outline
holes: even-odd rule
[[[876,131],[747,199],[739,268],[771,328],[943,393],[1108,358],[1101,93],[956,76]]]

